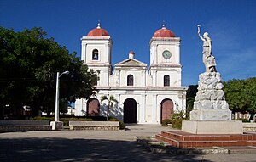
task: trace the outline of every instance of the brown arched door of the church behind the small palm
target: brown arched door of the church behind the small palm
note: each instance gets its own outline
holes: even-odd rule
[[[100,115],[100,103],[96,98],[90,98],[87,102],[87,115],[99,116]]]

